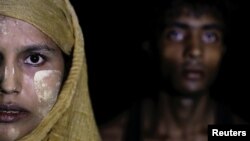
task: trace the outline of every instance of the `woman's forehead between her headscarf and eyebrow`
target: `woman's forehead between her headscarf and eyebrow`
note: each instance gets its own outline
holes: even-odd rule
[[[36,43],[56,46],[46,34],[25,21],[7,16],[1,16],[0,19],[0,44],[2,47],[4,45],[26,46]]]

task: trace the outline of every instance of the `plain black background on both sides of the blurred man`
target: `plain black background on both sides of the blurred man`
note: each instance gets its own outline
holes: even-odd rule
[[[89,88],[98,124],[116,116],[153,85],[142,41],[147,37],[155,2],[97,2],[71,0],[85,38]],[[234,1],[233,28],[213,97],[250,121],[249,7]]]

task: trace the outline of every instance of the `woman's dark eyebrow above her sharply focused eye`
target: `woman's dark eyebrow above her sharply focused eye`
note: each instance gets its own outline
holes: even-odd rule
[[[33,44],[33,45],[27,45],[23,46],[20,51],[22,52],[35,52],[35,51],[49,51],[49,52],[55,52],[54,48],[49,47],[46,44]]]

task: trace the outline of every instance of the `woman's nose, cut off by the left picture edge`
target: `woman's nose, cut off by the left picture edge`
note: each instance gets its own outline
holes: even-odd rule
[[[1,66],[0,76],[0,94],[19,93],[21,90],[20,72],[17,66],[12,63]]]

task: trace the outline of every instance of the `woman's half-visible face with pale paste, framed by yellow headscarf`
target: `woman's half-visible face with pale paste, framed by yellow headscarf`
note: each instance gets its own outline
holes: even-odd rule
[[[21,20],[0,19],[0,140],[31,132],[57,100],[64,59],[56,44]]]

